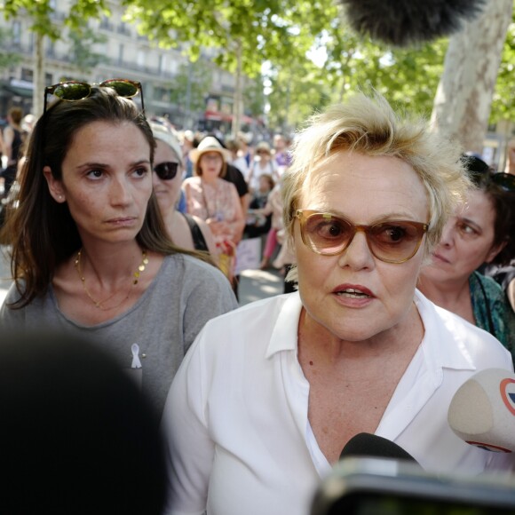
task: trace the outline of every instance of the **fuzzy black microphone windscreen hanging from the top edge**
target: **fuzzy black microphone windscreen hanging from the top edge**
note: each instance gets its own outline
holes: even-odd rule
[[[340,0],[351,27],[372,40],[408,46],[448,36],[481,12],[484,0]]]

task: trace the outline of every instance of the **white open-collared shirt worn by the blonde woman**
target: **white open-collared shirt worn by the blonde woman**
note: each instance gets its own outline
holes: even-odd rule
[[[427,471],[510,470],[513,457],[473,448],[448,427],[454,393],[483,368],[512,371],[491,335],[416,291],[424,339],[376,434]],[[307,411],[297,361],[298,292],[209,321],[186,354],[163,414],[174,515],[307,515],[331,466]]]

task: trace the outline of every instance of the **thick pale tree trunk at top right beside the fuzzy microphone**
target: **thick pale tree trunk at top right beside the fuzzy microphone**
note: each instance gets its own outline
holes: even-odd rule
[[[449,39],[434,99],[436,131],[481,153],[513,0],[488,0],[476,20]]]

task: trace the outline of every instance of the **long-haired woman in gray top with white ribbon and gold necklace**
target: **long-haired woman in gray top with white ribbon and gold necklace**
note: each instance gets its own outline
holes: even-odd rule
[[[61,100],[36,124],[20,207],[4,227],[15,282],[0,323],[99,341],[160,416],[194,337],[236,300],[215,266],[167,236],[153,193],[155,140],[125,98],[139,88],[123,80],[50,88]]]

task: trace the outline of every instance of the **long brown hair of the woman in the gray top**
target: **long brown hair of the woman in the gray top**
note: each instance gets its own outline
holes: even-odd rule
[[[43,296],[58,265],[82,246],[67,203],[55,202],[43,169],[62,177],[61,165],[75,134],[93,122],[134,123],[150,147],[154,161],[155,139],[145,115],[130,99],[109,88],[92,87],[91,96],[75,102],[57,101],[38,120],[28,145],[27,162],[21,171],[18,208],[9,210],[0,240],[12,245],[11,272],[20,298],[10,307],[21,308]],[[164,255],[187,254],[211,262],[209,255],[184,250],[170,241],[155,195],[147,204],[143,226],[136,236],[139,246]]]

